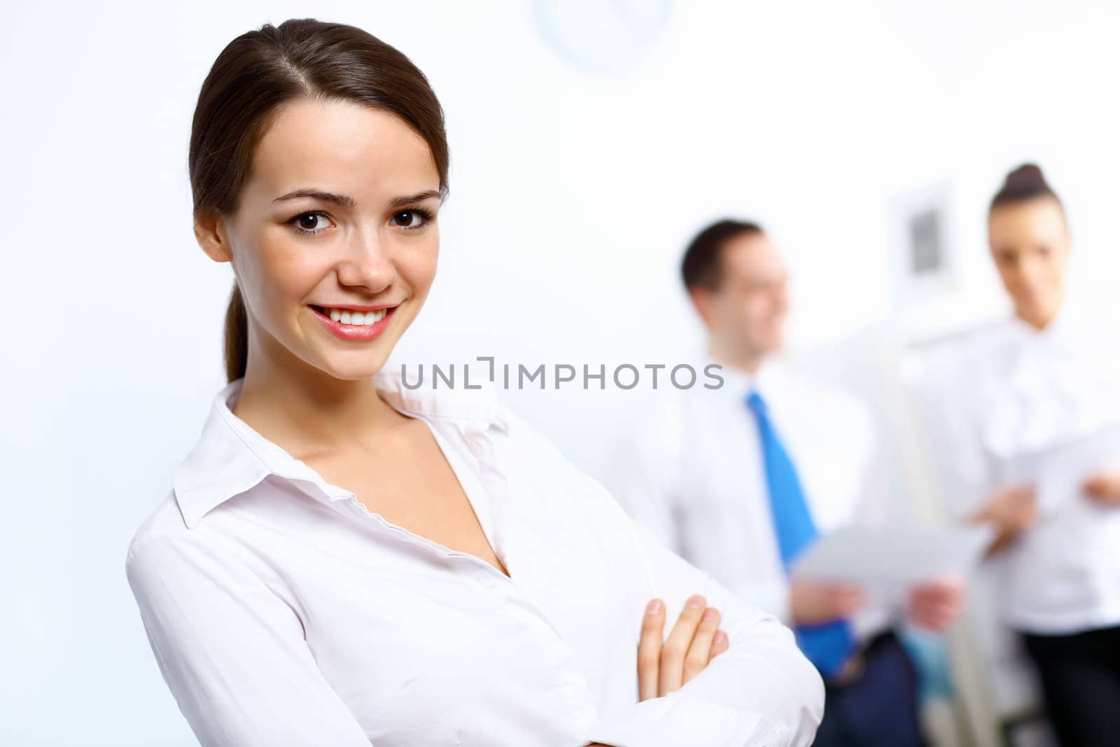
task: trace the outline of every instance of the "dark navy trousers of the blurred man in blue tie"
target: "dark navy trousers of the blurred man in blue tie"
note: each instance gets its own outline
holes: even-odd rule
[[[824,683],[824,719],[814,747],[925,747],[914,664],[894,633],[874,638],[864,671],[847,684]]]

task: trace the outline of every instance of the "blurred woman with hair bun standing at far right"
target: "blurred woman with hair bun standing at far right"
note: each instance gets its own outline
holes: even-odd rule
[[[1015,318],[981,334],[941,380],[946,487],[962,513],[998,529],[993,562],[1004,615],[1037,664],[1062,744],[1114,745],[1120,473],[1110,465],[1120,465],[1120,356],[1113,324],[1066,297],[1070,228],[1036,166],[1007,176],[991,202],[988,237]]]

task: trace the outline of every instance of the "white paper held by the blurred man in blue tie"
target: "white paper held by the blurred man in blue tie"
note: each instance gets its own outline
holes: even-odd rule
[[[989,526],[844,526],[820,538],[795,562],[795,579],[920,583],[964,578],[992,540]]]

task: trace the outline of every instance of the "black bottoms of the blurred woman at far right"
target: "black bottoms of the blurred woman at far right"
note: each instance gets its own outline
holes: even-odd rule
[[[1023,634],[1062,747],[1120,745],[1120,627]]]

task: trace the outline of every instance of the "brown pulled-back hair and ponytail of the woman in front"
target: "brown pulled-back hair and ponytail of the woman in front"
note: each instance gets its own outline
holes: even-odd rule
[[[188,156],[195,215],[234,212],[256,143],[279,108],[297,99],[352,101],[400,116],[427,141],[446,196],[444,111],[423,73],[360,28],[300,18],[242,34],[206,75]],[[225,314],[228,381],[245,375],[248,356],[248,316],[235,281]]]

